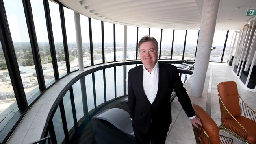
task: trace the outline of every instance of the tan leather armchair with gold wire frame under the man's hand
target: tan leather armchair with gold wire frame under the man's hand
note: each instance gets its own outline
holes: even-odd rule
[[[194,127],[197,144],[232,144],[233,139],[219,135],[219,129],[213,119],[198,105],[193,105],[196,116],[201,119],[203,126]]]

